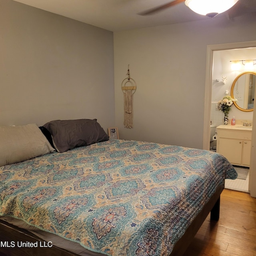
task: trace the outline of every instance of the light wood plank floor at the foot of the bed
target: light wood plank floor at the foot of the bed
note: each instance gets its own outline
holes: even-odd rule
[[[204,221],[184,256],[256,256],[256,198],[224,189],[220,219]]]

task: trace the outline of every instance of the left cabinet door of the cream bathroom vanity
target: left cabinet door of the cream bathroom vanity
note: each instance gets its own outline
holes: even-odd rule
[[[241,164],[242,145],[242,140],[219,138],[218,153],[225,156],[232,164]]]

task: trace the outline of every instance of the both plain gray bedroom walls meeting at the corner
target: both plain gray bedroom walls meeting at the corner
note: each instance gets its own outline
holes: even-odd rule
[[[105,130],[117,126],[120,138],[202,148],[206,47],[256,40],[255,28],[250,16],[214,18],[114,32],[113,39],[0,0],[0,125],[97,118]],[[128,64],[137,83],[133,129],[123,125]]]

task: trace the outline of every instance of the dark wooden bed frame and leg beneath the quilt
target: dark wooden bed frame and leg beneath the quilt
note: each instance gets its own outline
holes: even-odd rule
[[[224,183],[218,186],[216,189],[216,192],[212,195],[210,200],[207,202],[207,204],[204,205],[202,210],[199,212],[199,214],[196,216],[196,218],[193,220],[193,222],[190,224],[184,235],[176,242],[172,253],[170,256],[182,256],[184,252],[186,251],[188,245],[192,242],[194,236],[198,232],[199,228],[201,227],[202,223],[210,213],[211,220],[218,220],[220,216],[220,194],[222,193],[222,190],[224,189]],[[54,256],[78,256],[77,254],[74,254],[72,252],[68,252],[64,249],[58,248],[56,246],[52,247],[7,247],[4,246],[4,242],[10,242],[14,241],[15,244],[17,241],[19,242],[38,242],[38,244],[41,241],[41,244],[44,244],[44,241],[34,234],[21,229],[17,228],[16,226],[9,224],[8,222],[4,220],[0,220],[0,254],[2,256],[47,256],[47,255],[54,255]],[[47,243],[46,243],[47,244]]]

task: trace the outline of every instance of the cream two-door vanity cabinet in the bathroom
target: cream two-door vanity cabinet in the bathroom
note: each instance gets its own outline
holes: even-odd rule
[[[252,127],[220,125],[217,127],[217,153],[231,164],[250,166]]]

